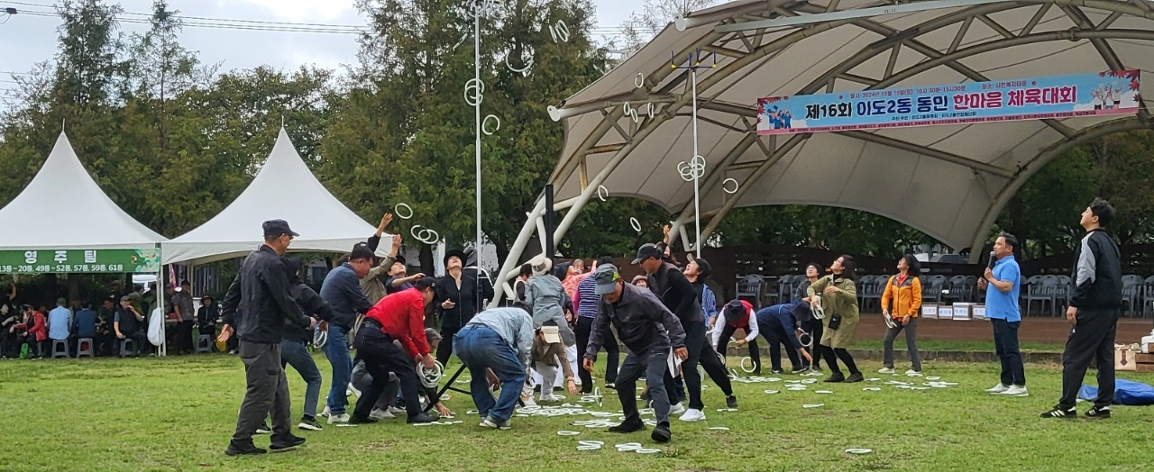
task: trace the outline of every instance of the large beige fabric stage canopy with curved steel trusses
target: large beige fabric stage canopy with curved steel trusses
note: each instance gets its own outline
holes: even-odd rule
[[[554,240],[604,186],[599,196],[644,198],[675,213],[675,234],[691,246],[684,228],[691,232],[695,222],[694,183],[677,172],[692,158],[691,77],[670,67],[670,54],[683,61],[700,50],[718,61],[697,73],[698,153],[707,163],[699,179],[703,241],[733,208],[809,204],[874,212],[958,249],[979,247],[1002,208],[1055,157],[1108,134],[1151,128],[1144,97],[1136,115],[755,133],[762,97],[1123,68],[1154,74],[1154,3],[1147,0],[958,0],[952,8],[845,17],[894,5],[739,0],[679,20],[684,30],[667,25],[614,70],[550,107],[565,129],[549,179],[554,209],[571,208]],[[735,28],[811,15],[808,24]],[[844,16],[820,20],[831,15]],[[722,190],[726,179],[737,181],[735,193]],[[542,211],[539,201],[502,267],[507,278]]]

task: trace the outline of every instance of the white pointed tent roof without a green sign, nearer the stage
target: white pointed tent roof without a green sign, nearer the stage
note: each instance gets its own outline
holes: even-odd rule
[[[280,128],[272,152],[248,188],[212,219],[165,242],[164,263],[243,256],[263,242],[261,223],[269,219],[284,219],[300,233],[290,248],[294,252],[347,253],[376,231],[316,180]],[[390,239],[383,237],[380,249]]]

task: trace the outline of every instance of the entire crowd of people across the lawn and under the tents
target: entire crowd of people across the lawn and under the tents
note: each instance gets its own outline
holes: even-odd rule
[[[1081,216],[1087,233],[1077,253],[1076,291],[1066,312],[1072,328],[1063,357],[1063,391],[1059,403],[1042,418],[1077,417],[1078,388],[1092,359],[1097,360],[1101,394],[1086,415],[1110,415],[1114,336],[1122,305],[1121,255],[1104,232],[1114,213],[1109,203],[1095,200]],[[807,265],[794,301],[767,307],[757,306],[759,300],[719,302],[710,287],[709,261],[690,254],[681,265],[667,240],[637,249],[632,264],[643,275],[629,282],[612,257],[597,260],[586,271],[582,260],[555,267],[550,259],[537,256],[520,268],[511,306],[482,310],[493,286],[471,264],[470,254],[450,250],[443,261],[447,275],[440,279],[407,275],[397,254],[399,235],[379,256],[377,246],[390,220],[391,215],[385,215],[375,235],[338,261],[319,292],[300,279],[300,263],[285,256],[298,234],[284,220],[263,224],[264,245],[246,257],[219,306],[204,298],[194,313],[188,285],[174,290],[170,299],[177,332],[190,340],[195,324],[204,335],[216,334],[216,324],[222,324],[217,340],[234,343],[245,366],[247,389],[227,455],[265,452],[253,441],[262,433],[271,434],[272,451],[305,443],[292,433],[294,412],[285,366],[306,383],[297,424],[302,430],[323,430],[320,418],[328,425],[364,425],[400,414],[407,424],[451,417],[437,387],[443,365],[456,354],[470,370],[480,427],[509,429],[514,409],[518,403],[532,405],[534,390],[539,391],[537,400],[547,403],[562,399],[554,395],[555,388],[570,395],[590,394],[597,375],[605,388],[616,391],[622,405],[624,420],[609,432],[646,429],[638,413],[640,398],[653,409],[655,426],[650,436],[659,443],[672,440],[672,415],[681,421],[705,419],[702,380],[706,375],[722,392],[726,406],[737,409],[726,370],[730,340],[741,350],[764,338],[774,374],[786,372],[784,346],[790,373],[823,372],[824,360],[825,382],[864,380],[848,351],[861,321],[855,262],[849,255],[837,257],[827,269]],[[1029,395],[1018,350],[1018,247],[1014,237],[999,234],[990,265],[979,280],[1002,367],[998,384],[987,391],[1006,397]],[[879,372],[897,374],[893,342],[904,331],[911,361],[906,374],[920,375],[920,264],[904,256],[896,269],[882,294],[887,330]],[[12,286],[8,300],[15,299],[15,291]],[[3,350],[27,346],[44,355],[45,342],[75,337],[97,339],[105,351],[115,339],[137,339],[143,345],[140,327],[144,317],[134,305],[138,298],[122,295],[119,306],[110,298],[99,312],[78,300],[69,309],[60,299],[46,315],[27,305],[20,313],[10,312],[10,304],[0,305]],[[430,317],[440,320],[440,330],[426,328]],[[321,412],[316,410],[323,379],[308,350],[310,343],[323,350],[331,365]],[[627,350],[623,360],[620,345]],[[186,347],[190,349],[179,345],[178,352]],[[595,370],[602,349],[609,358],[604,376]],[[752,368],[759,373],[759,360]],[[642,379],[645,388],[638,395],[636,383]],[[355,397],[351,410],[350,397]]]

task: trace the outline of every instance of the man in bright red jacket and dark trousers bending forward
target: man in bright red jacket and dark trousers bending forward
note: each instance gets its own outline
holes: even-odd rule
[[[421,412],[417,369],[413,365],[413,359],[417,359],[426,368],[436,366],[425,338],[425,306],[433,302],[436,282],[421,278],[413,285],[412,289],[377,301],[365,315],[365,323],[357,331],[357,358],[365,361],[365,368],[373,375],[373,383],[357,400],[351,422],[377,421],[369,418],[369,413],[384,392],[390,372],[400,380],[400,392],[405,397],[405,410],[409,413],[405,422],[436,421],[435,417]],[[394,340],[399,342],[404,350],[397,347]]]

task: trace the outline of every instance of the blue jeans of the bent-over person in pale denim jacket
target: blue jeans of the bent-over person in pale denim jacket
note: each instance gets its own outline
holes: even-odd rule
[[[467,324],[452,338],[452,351],[469,367],[472,377],[469,391],[480,418],[492,417],[507,421],[517,406],[520,388],[525,384],[525,366],[517,353],[493,329],[481,324]],[[494,402],[485,369],[490,368],[501,380],[501,395]]]

